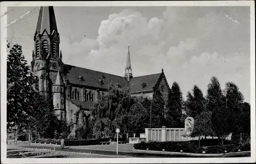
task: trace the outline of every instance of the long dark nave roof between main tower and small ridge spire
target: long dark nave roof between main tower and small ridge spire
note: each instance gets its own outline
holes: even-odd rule
[[[109,89],[111,84],[119,85],[120,87],[129,86],[127,79],[122,76],[67,64],[65,64],[63,68],[64,72],[66,72],[65,79],[68,79],[69,83],[71,84],[101,88],[106,90]]]

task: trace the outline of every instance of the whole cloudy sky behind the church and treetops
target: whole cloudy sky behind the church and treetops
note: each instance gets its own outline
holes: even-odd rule
[[[62,60],[123,76],[130,45],[133,75],[161,72],[185,98],[210,77],[237,84],[250,102],[249,7],[54,7]],[[7,36],[31,62],[39,7],[9,7]]]

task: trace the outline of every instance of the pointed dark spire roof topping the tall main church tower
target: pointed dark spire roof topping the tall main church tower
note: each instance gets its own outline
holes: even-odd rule
[[[58,33],[53,6],[40,7],[36,31],[42,34],[44,30],[46,30],[49,35],[51,35],[53,31]]]

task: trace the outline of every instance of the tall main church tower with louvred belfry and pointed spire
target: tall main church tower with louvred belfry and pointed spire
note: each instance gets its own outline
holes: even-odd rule
[[[52,6],[40,7],[32,57],[31,70],[37,75],[38,90],[51,96],[57,72],[62,72],[59,33]]]

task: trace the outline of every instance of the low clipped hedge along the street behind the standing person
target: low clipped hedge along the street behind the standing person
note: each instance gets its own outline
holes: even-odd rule
[[[41,144],[56,144],[60,145],[60,139],[35,139],[33,142]],[[100,145],[99,140],[66,140],[66,146],[84,146],[84,145]]]

